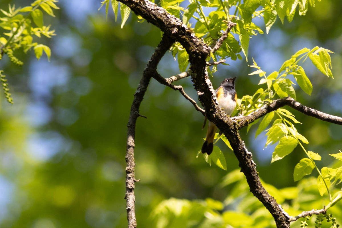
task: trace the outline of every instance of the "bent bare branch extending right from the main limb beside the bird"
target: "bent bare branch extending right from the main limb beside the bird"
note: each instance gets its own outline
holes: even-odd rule
[[[248,124],[254,122],[255,120],[263,117],[267,113],[275,111],[278,108],[284,107],[286,105],[295,109],[295,110],[298,110],[298,111],[304,113],[307,116],[312,116],[312,117],[315,117],[315,118],[323,120],[323,121],[342,125],[342,118],[341,117],[329,115],[327,113],[318,111],[316,109],[306,107],[306,106],[300,104],[299,102],[295,101],[291,97],[284,97],[281,99],[273,100],[271,104],[267,104],[267,105],[262,106],[259,110],[250,113],[248,116],[239,116],[239,117],[235,117],[233,119],[235,121],[237,121],[238,129],[241,129],[241,128],[247,126]]]

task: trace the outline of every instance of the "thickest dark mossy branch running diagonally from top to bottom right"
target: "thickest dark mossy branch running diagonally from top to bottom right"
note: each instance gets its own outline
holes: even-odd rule
[[[227,118],[215,99],[214,89],[207,75],[206,58],[210,53],[208,46],[183,25],[180,19],[170,15],[165,9],[158,7],[156,4],[147,0],[119,1],[128,5],[132,11],[141,15],[148,22],[156,25],[166,35],[180,42],[185,48],[189,55],[192,81],[199,95],[199,100],[205,107],[207,118],[214,122],[228,138],[239,160],[241,171],[247,177],[250,190],[272,214],[277,227],[288,228],[289,216],[261,185],[252,155],[242,142],[236,124],[230,118]]]

